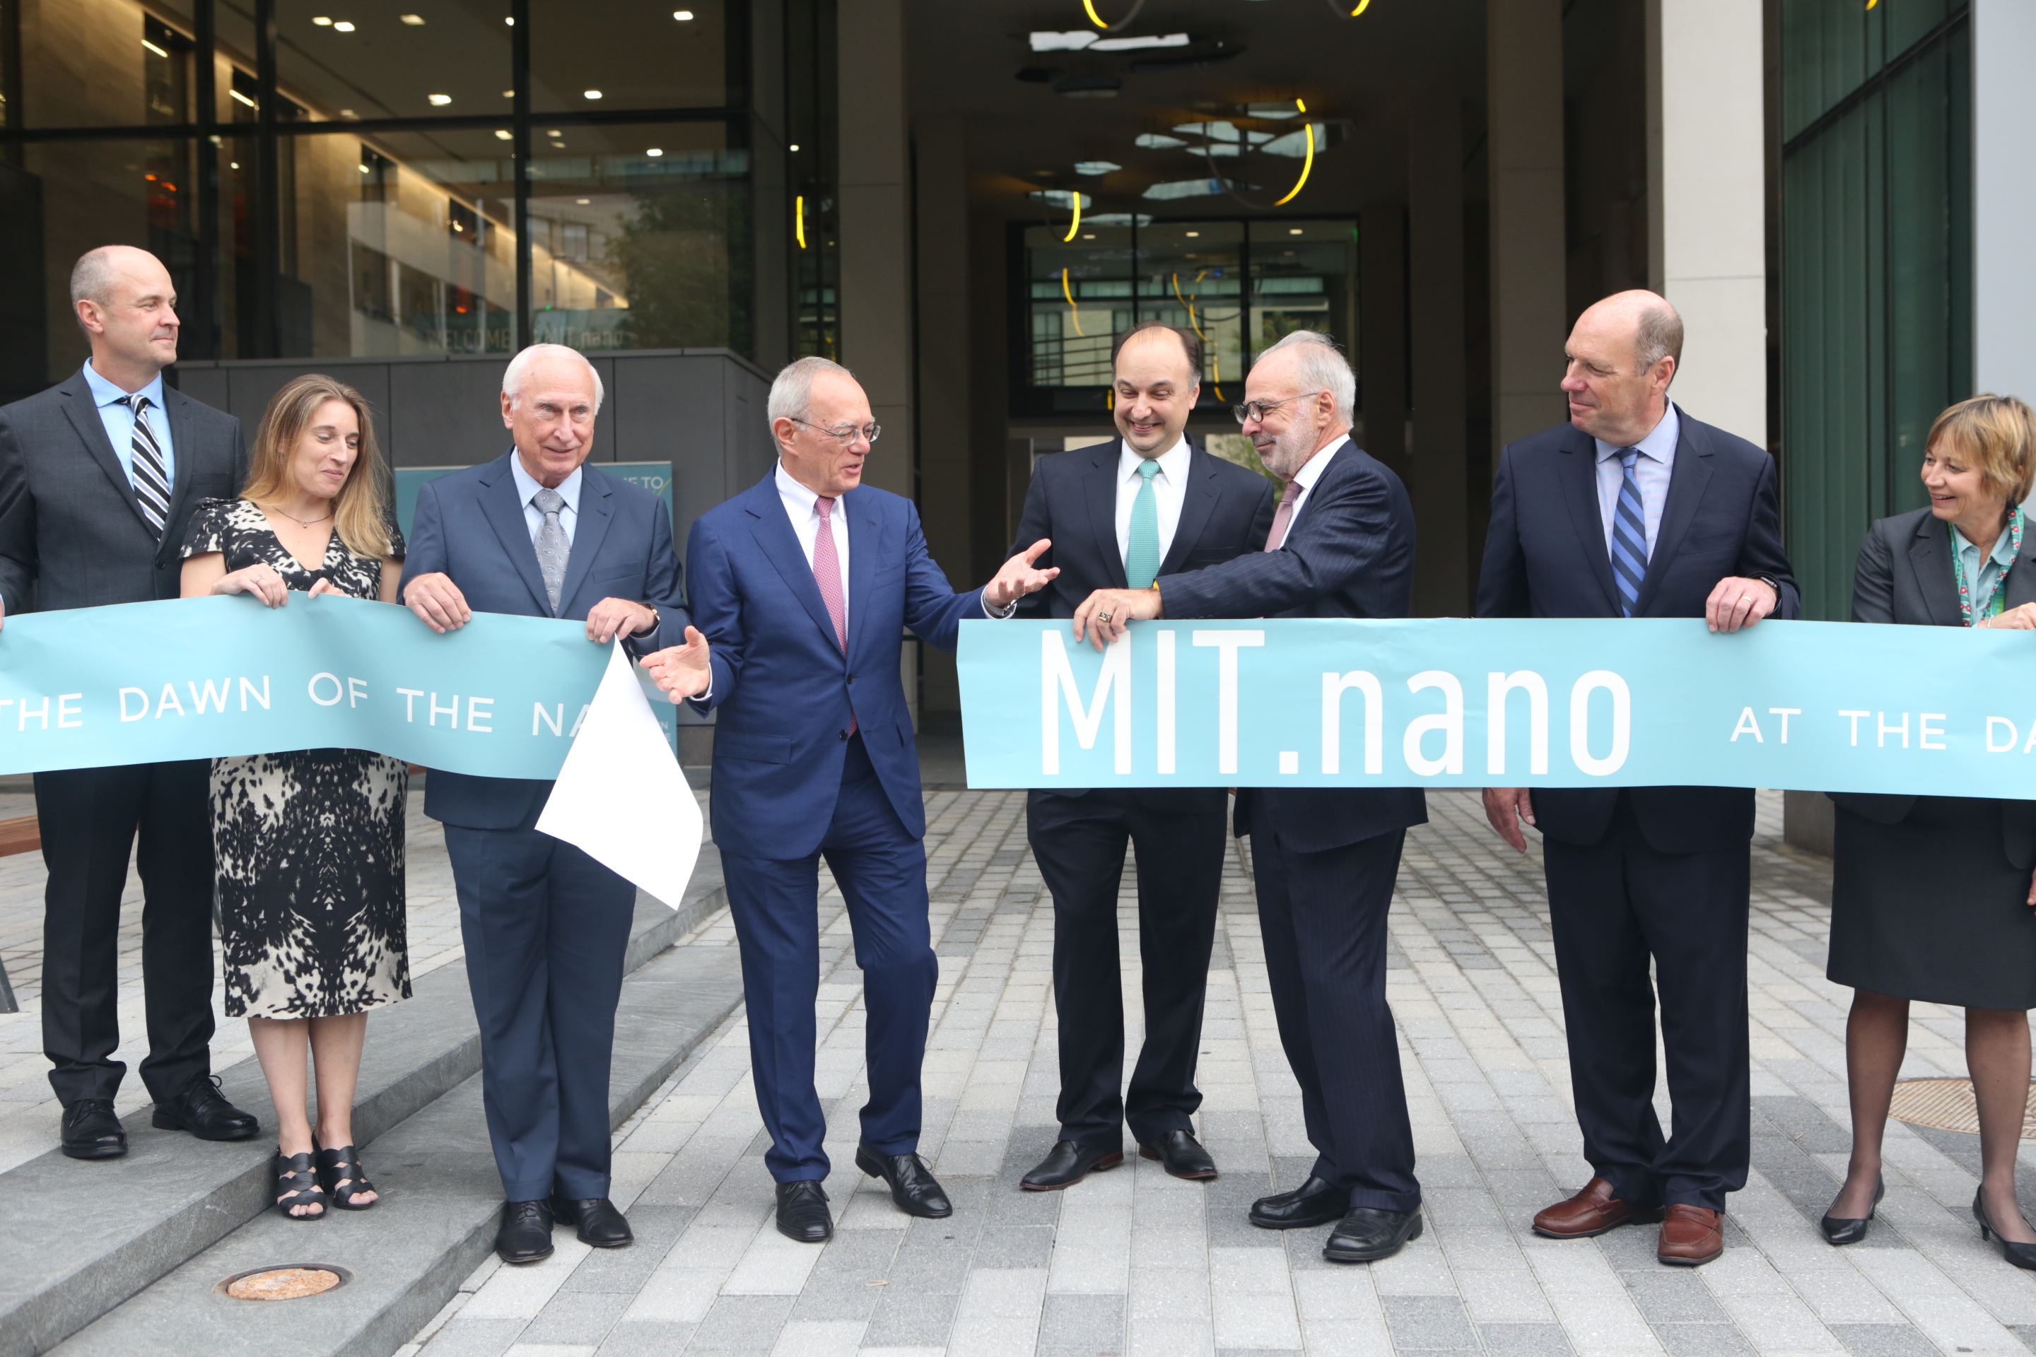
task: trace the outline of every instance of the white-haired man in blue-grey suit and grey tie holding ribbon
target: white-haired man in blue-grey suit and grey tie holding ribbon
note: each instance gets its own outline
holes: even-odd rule
[[[503,372],[515,446],[417,492],[403,602],[438,633],[474,610],[586,623],[633,651],[694,635],[680,602],[672,515],[627,480],[582,466],[601,374],[578,352],[533,344]],[[423,812],[446,826],[460,895],[466,983],[480,1021],[480,1086],[501,1170],[495,1249],[552,1253],[552,1223],[629,1243],[609,1202],[609,1056],[635,887],[540,834],[552,783],[434,771]]]

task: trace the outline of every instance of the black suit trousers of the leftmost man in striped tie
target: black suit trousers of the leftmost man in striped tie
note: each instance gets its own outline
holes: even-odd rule
[[[212,1070],[212,763],[35,775],[43,895],[43,1054],[59,1103],[110,1099],[120,1046],[120,893],[140,832],[140,975],[153,1099]]]

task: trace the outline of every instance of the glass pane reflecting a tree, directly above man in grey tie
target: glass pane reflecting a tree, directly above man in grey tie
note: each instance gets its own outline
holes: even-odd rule
[[[719,124],[544,128],[531,161],[531,338],[753,350],[749,153]]]

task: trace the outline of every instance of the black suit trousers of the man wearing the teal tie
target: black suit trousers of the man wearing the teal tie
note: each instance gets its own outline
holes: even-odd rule
[[[1034,791],[1026,828],[1053,893],[1053,1001],[1061,1017],[1061,1139],[1122,1149],[1191,1129],[1209,944],[1224,879],[1222,789],[1152,795]],[[1144,1046],[1124,1088],[1118,883],[1138,865]]]

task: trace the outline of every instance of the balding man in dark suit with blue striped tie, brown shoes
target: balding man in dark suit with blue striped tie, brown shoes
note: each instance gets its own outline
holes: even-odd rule
[[[1606,297],[1578,317],[1566,358],[1570,423],[1498,458],[1478,616],[1702,616],[1722,633],[1796,616],[1773,458],[1667,399],[1676,309],[1647,291]],[[1659,1219],[1663,1263],[1708,1263],[1751,1154],[1753,791],[1490,787],[1484,814],[1521,852],[1521,822],[1541,830],[1592,1168],[1535,1233],[1582,1239]],[[1653,1111],[1655,989],[1676,1103],[1667,1139]]]

